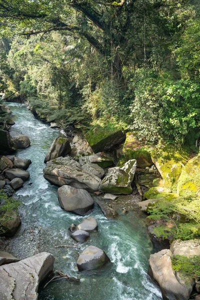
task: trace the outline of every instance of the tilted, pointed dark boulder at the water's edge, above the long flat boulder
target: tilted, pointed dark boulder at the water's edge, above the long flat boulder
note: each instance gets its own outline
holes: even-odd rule
[[[70,152],[70,150],[71,146],[68,139],[65,137],[58,136],[53,140],[44,158],[44,162],[55,159],[60,156],[64,157]]]

